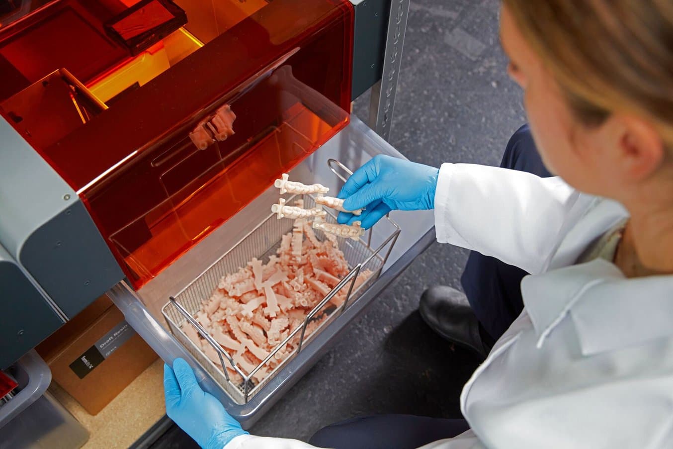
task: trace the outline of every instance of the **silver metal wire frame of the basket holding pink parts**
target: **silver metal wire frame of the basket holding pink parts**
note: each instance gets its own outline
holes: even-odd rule
[[[329,159],[328,160],[328,167],[343,182],[346,182],[347,177],[345,177],[341,172],[345,172],[345,174],[347,174],[349,176],[353,174],[353,172],[351,170],[349,170],[349,168],[347,168],[347,166],[345,166],[344,164],[342,164],[338,160]],[[341,172],[340,172],[340,170],[341,170]],[[293,197],[291,197],[291,199],[295,198],[295,197],[300,197],[300,196],[301,195],[293,195]],[[314,198],[313,195],[305,195],[305,196]],[[327,213],[329,215],[331,215],[332,218],[336,219],[336,215],[334,215],[331,211],[327,211]],[[260,221],[260,223],[258,223],[257,226],[255,226],[250,232],[248,232],[248,234],[246,234],[243,238],[241,238],[238,242],[236,242],[236,244],[234,244],[234,246],[229,248],[229,250],[227,250],[224,254],[222,254],[222,256],[217,258],[217,260],[215,262],[211,263],[211,265],[209,265],[209,267],[207,267],[205,270],[203,270],[201,272],[201,274],[199,274],[192,281],[190,281],[190,283],[188,283],[188,285],[186,285],[186,287],[184,287],[178,293],[176,293],[175,296],[170,296],[169,301],[162,307],[162,314],[164,315],[164,319],[168,323],[168,327],[169,327],[170,331],[172,333],[174,333],[174,335],[176,335],[176,337],[178,337],[178,338],[182,337],[182,338],[179,338],[179,339],[182,339],[184,341],[188,341],[189,343],[191,343],[191,345],[189,345],[189,347],[192,348],[192,351],[190,351],[190,352],[196,353],[196,354],[199,355],[199,357],[197,357],[197,360],[199,360],[199,363],[201,363],[203,365],[203,361],[205,361],[207,364],[211,364],[213,366],[213,368],[217,369],[218,371],[220,371],[224,375],[224,378],[225,378],[226,382],[229,384],[229,386],[234,387],[233,388],[234,391],[242,392],[243,403],[248,403],[248,401],[251,399],[251,397],[254,396],[254,393],[256,391],[260,390],[260,388],[262,388],[262,386],[267,384],[273,377],[276,376],[276,374],[277,374],[277,372],[279,372],[279,370],[282,370],[291,359],[293,359],[296,355],[298,355],[302,351],[302,348],[306,344],[309,343],[308,341],[310,341],[314,335],[317,335],[324,328],[324,326],[327,326],[328,324],[330,324],[332,322],[332,320],[334,318],[336,318],[336,316],[339,316],[340,314],[343,314],[343,312],[345,312],[345,310],[347,310],[348,306],[350,304],[353,304],[353,302],[351,302],[351,296],[355,295],[356,296],[355,301],[357,301],[357,293],[359,293],[359,291],[361,289],[363,289],[363,287],[366,287],[369,283],[371,283],[372,281],[377,279],[378,276],[381,274],[382,269],[384,268],[384,266],[386,265],[386,262],[388,261],[388,256],[390,256],[390,252],[392,251],[392,247],[396,243],[396,241],[398,239],[398,236],[400,235],[400,231],[401,231],[400,226],[394,220],[392,220],[389,215],[386,215],[386,220],[390,223],[390,225],[392,225],[394,230],[392,231],[392,233],[390,235],[388,235],[383,240],[383,242],[376,249],[371,248],[371,237],[372,237],[372,229],[373,228],[368,230],[366,240],[364,240],[363,238],[359,238],[358,241],[361,242],[361,244],[363,244],[365,246],[365,248],[369,252],[369,256],[367,256],[367,258],[365,258],[364,261],[361,261],[361,262],[355,264],[355,266],[353,266],[353,268],[349,271],[349,273],[345,277],[343,277],[343,279],[341,279],[341,281],[333,289],[331,289],[330,292],[322,300],[320,300],[320,302],[316,306],[314,306],[310,310],[310,312],[308,312],[308,314],[306,315],[306,318],[304,318],[303,324],[295,327],[295,329],[292,329],[292,331],[289,333],[289,335],[285,339],[283,339],[283,341],[281,341],[281,343],[276,345],[276,347],[271,351],[271,353],[269,353],[269,355],[264,360],[262,360],[260,362],[260,364],[258,364],[254,368],[254,370],[252,370],[250,372],[250,374],[246,375],[238,367],[238,365],[234,362],[234,359],[233,359],[232,355],[229,354],[229,351],[227,351],[226,349],[221,347],[221,345],[219,345],[219,343],[217,343],[217,341],[215,341],[215,339],[210,335],[210,333],[208,331],[206,331],[206,329],[203,326],[201,326],[201,324],[194,318],[194,316],[192,316],[192,314],[182,304],[180,304],[180,301],[177,300],[176,297],[179,298],[180,295],[184,291],[188,290],[192,285],[194,285],[194,283],[196,283],[204,275],[209,273],[209,271],[211,271],[211,269],[213,269],[213,267],[215,267],[218,263],[220,263],[223,260],[223,258],[227,257],[227,255],[230,252],[232,252],[235,248],[237,248],[240,244],[242,244],[242,242],[244,242],[247,238],[249,238],[252,234],[254,234],[261,226],[264,225],[264,223],[267,223],[267,220],[271,219],[271,217],[273,217],[273,215],[275,215],[275,214],[271,213],[270,215],[267,215],[266,217],[264,217],[264,219],[262,219],[262,221]],[[385,255],[381,256],[380,253],[384,250],[384,248],[386,248],[386,246],[388,246],[388,248],[385,251]],[[253,256],[253,255],[251,254],[250,256]],[[256,256],[256,254],[254,256]],[[374,273],[371,274],[371,276],[369,276],[369,278],[366,279],[365,282],[362,283],[362,285],[360,285],[357,289],[355,289],[355,291],[353,291],[353,287],[355,286],[355,280],[357,279],[362,267],[365,267],[373,258],[378,258],[379,259],[380,266],[378,267],[378,269],[376,269],[374,271]],[[306,329],[308,327],[308,324],[314,318],[314,316],[316,316],[316,314],[318,314],[318,312],[320,312],[324,308],[324,306],[326,306],[326,304],[328,302],[330,302],[330,300],[332,300],[332,298],[334,298],[334,296],[336,296],[336,293],[339,293],[339,291],[341,291],[341,289],[343,289],[348,283],[350,283],[350,285],[348,286],[348,291],[347,291],[347,294],[346,294],[346,297],[345,297],[345,300],[344,300],[343,304],[341,304],[339,307],[336,308],[336,310],[333,310],[330,314],[328,314],[328,318],[326,320],[324,320],[324,322],[322,322],[318,326],[318,328],[316,328],[312,333],[310,333],[307,336],[306,335]],[[204,298],[204,299],[206,299],[206,298]],[[175,322],[171,318],[170,314],[167,311],[167,309],[170,308],[171,306],[174,307],[178,311],[178,313],[182,317],[184,317],[192,326],[194,326],[194,329],[196,329],[196,331],[199,333],[199,335],[201,335],[201,337],[203,337],[203,339],[205,339],[205,341],[207,341],[209,343],[209,345],[211,345],[213,347],[213,349],[215,349],[215,351],[217,352],[217,355],[219,357],[219,362],[220,362],[221,366],[217,367],[216,364],[213,363],[213,361],[205,355],[205,353],[203,352],[203,350],[201,348],[197,347],[197,345],[194,342],[192,342],[188,337],[186,337],[186,335],[184,334],[184,332],[180,328],[181,323]],[[297,335],[297,333],[299,333],[299,332],[301,332],[301,334],[300,334],[299,343],[297,344],[296,349],[293,349],[293,351],[291,351],[291,353],[289,353],[287,355],[287,357],[285,357],[285,359],[283,359],[283,361],[281,361],[281,363],[279,363],[279,365],[277,367],[275,367],[273,370],[271,370],[269,372],[269,374],[267,374],[267,376],[262,381],[257,382],[257,384],[252,386],[252,388],[251,388],[252,378],[258,372],[258,370],[260,370],[262,368],[262,366],[265,366],[269,362],[269,360],[271,360],[271,358],[278,351],[280,351],[283,347],[285,347],[285,345],[287,345],[287,343],[289,343],[289,341],[291,341],[291,339],[293,339],[293,337],[295,337],[295,335]],[[180,335],[178,335],[178,333]],[[194,354],[194,355],[196,355],[196,354]],[[225,365],[225,359],[229,362],[229,366],[231,366],[232,370],[234,370],[243,379],[242,387],[234,384],[234,382],[232,382],[232,380],[229,378],[229,373],[227,372],[226,365]],[[206,369],[206,367],[203,367],[203,368]],[[222,385],[222,386],[223,386],[224,390],[229,394],[229,396],[232,396],[232,399],[234,399],[234,401],[236,401],[236,398],[234,398],[234,396],[232,394],[232,388],[227,388],[227,386],[225,386],[225,385]]]

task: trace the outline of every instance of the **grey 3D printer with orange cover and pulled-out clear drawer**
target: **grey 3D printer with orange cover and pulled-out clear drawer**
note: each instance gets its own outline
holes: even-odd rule
[[[252,228],[275,239],[262,225],[283,172],[338,191],[328,160],[402,157],[350,108],[382,78],[374,123],[389,131],[409,1],[0,5],[0,368],[108,292],[248,426],[432,241],[431,215],[396,217],[376,279],[238,399],[176,334],[168,298],[191,294]],[[363,245],[391,232],[375,227]]]

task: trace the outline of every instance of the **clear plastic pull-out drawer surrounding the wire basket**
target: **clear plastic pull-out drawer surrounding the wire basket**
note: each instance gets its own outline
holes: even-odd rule
[[[377,154],[404,158],[361,120],[351,116],[351,123],[293,169],[290,178],[308,184],[320,182],[329,187],[330,191],[339,191],[343,184],[325,164],[326,160],[339,159],[347,166],[359,167]],[[269,188],[139,291],[133,291],[125,282],[115,285],[108,291],[108,296],[122,310],[127,322],[160,357],[169,365],[177,357],[186,359],[194,368],[194,374],[203,389],[213,394],[244,429],[249,429],[264,413],[267,413],[320,360],[334,342],[338,341],[349,324],[357,320],[367,307],[374,303],[377,296],[411,264],[416,256],[435,242],[432,211],[392,212],[390,215],[396,223],[399,223],[402,232],[390,251],[382,273],[371,281],[371,285],[366,289],[362,288],[359,291],[359,298],[351,301],[347,310],[336,314],[334,321],[314,335],[310,344],[302,347],[301,353],[295,355],[287,366],[262,386],[247,403],[236,403],[232,396],[225,392],[223,386],[199,364],[185,345],[168,331],[161,309],[166,304],[166,298],[177,296],[178,292],[203,273],[210,265],[209,261],[216,261],[229,248],[240,242],[248,234],[250,223],[261,223],[266,219],[269,216],[267,207],[277,200],[277,188]],[[369,240],[371,236],[371,246],[378,247],[394,231],[393,228],[388,220],[381,220],[372,228],[373,235],[369,234],[366,238]],[[350,344],[358,345],[359,342],[353,341]]]

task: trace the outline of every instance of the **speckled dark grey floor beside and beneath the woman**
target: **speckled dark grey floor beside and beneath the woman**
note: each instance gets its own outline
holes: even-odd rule
[[[505,73],[497,0],[413,0],[390,142],[409,159],[497,165],[524,123]],[[355,104],[367,120],[368,96]],[[461,417],[460,390],[478,361],[425,326],[431,285],[460,287],[467,252],[433,244],[269,413],[253,434],[308,440],[324,425],[374,413]],[[189,447],[172,429],[155,448]]]

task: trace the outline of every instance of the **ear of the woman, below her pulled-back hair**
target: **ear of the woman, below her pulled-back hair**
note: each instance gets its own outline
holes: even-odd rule
[[[637,116],[614,114],[608,118],[616,131],[617,163],[629,180],[647,178],[661,166],[666,156],[664,142],[647,121]]]

